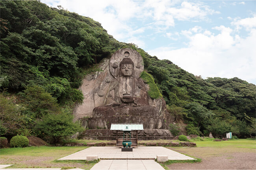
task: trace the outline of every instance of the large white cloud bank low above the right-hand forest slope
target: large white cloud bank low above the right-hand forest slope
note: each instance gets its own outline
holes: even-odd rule
[[[214,27],[221,33],[187,34],[188,47],[171,49],[160,47],[147,51],[152,56],[160,59],[171,60],[182,69],[195,75],[206,77],[238,77],[250,83],[256,80],[256,29],[250,35],[241,38],[230,35],[230,28]]]

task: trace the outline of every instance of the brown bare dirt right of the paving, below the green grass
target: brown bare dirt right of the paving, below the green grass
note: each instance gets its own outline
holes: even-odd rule
[[[256,169],[256,150],[252,148],[171,148],[202,159],[200,163],[174,163],[169,169]]]

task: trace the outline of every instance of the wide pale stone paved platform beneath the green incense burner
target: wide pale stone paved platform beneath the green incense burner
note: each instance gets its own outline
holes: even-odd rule
[[[115,146],[93,146],[58,160],[86,160],[88,155],[98,155],[100,159],[156,159],[157,155],[166,155],[169,160],[193,160],[194,158],[180,154],[162,146],[140,146],[133,152],[122,152]]]

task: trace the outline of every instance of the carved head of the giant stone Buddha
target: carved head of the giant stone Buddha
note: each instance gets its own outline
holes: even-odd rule
[[[134,62],[132,61],[131,58],[125,57],[122,59],[120,62],[120,71],[121,75],[125,77],[130,77],[132,76],[132,72],[134,71]]]

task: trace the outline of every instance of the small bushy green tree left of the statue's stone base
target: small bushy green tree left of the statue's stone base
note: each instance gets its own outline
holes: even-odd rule
[[[70,136],[76,132],[82,132],[83,128],[79,123],[72,122],[73,116],[67,112],[59,114],[46,114],[42,120],[37,122],[35,131],[41,137],[51,137],[53,143],[59,141],[60,137]]]

